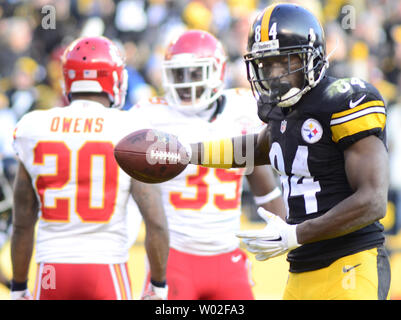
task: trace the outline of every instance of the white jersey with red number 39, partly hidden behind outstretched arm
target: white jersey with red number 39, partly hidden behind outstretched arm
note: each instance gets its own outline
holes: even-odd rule
[[[187,143],[239,136],[262,128],[249,90],[225,90],[222,98],[207,116],[186,115],[161,98],[141,101],[130,112],[143,114],[155,129],[175,134]],[[176,178],[160,184],[172,248],[212,255],[238,247],[235,231],[240,227],[243,171],[189,165]]]

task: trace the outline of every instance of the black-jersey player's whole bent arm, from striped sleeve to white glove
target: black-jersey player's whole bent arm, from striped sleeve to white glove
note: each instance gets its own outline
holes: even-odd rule
[[[340,95],[343,102],[331,115],[330,128],[333,142],[344,150],[345,174],[353,193],[324,215],[297,225],[289,225],[260,208],[258,213],[267,223],[265,229],[237,234],[247,249],[256,253],[257,260],[351,233],[385,216],[389,173],[382,140],[384,101],[374,87],[361,80],[343,79],[337,85],[341,87],[339,93],[346,94]]]

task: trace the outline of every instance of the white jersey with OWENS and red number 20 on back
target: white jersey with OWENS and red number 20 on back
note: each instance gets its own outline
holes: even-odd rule
[[[37,262],[127,261],[125,205],[131,182],[113,149],[144,126],[127,112],[86,100],[33,111],[19,121],[14,148],[40,207]]]

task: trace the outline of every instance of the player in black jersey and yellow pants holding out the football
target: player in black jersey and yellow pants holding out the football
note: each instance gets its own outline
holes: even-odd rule
[[[266,228],[238,236],[258,260],[288,252],[284,299],[388,298],[379,223],[389,175],[383,98],[358,78],[325,75],[323,29],[298,5],[267,7],[244,58],[266,130],[191,145],[191,163],[278,171],[286,222],[259,209]]]

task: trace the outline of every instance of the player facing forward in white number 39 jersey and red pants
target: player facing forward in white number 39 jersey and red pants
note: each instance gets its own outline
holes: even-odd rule
[[[190,30],[168,47],[164,98],[139,102],[130,112],[186,143],[238,136],[262,128],[252,93],[223,90],[225,54],[211,34]],[[254,299],[249,261],[239,249],[243,170],[188,166],[160,185],[170,231],[169,299]],[[273,173],[246,175],[259,205],[284,215]]]

